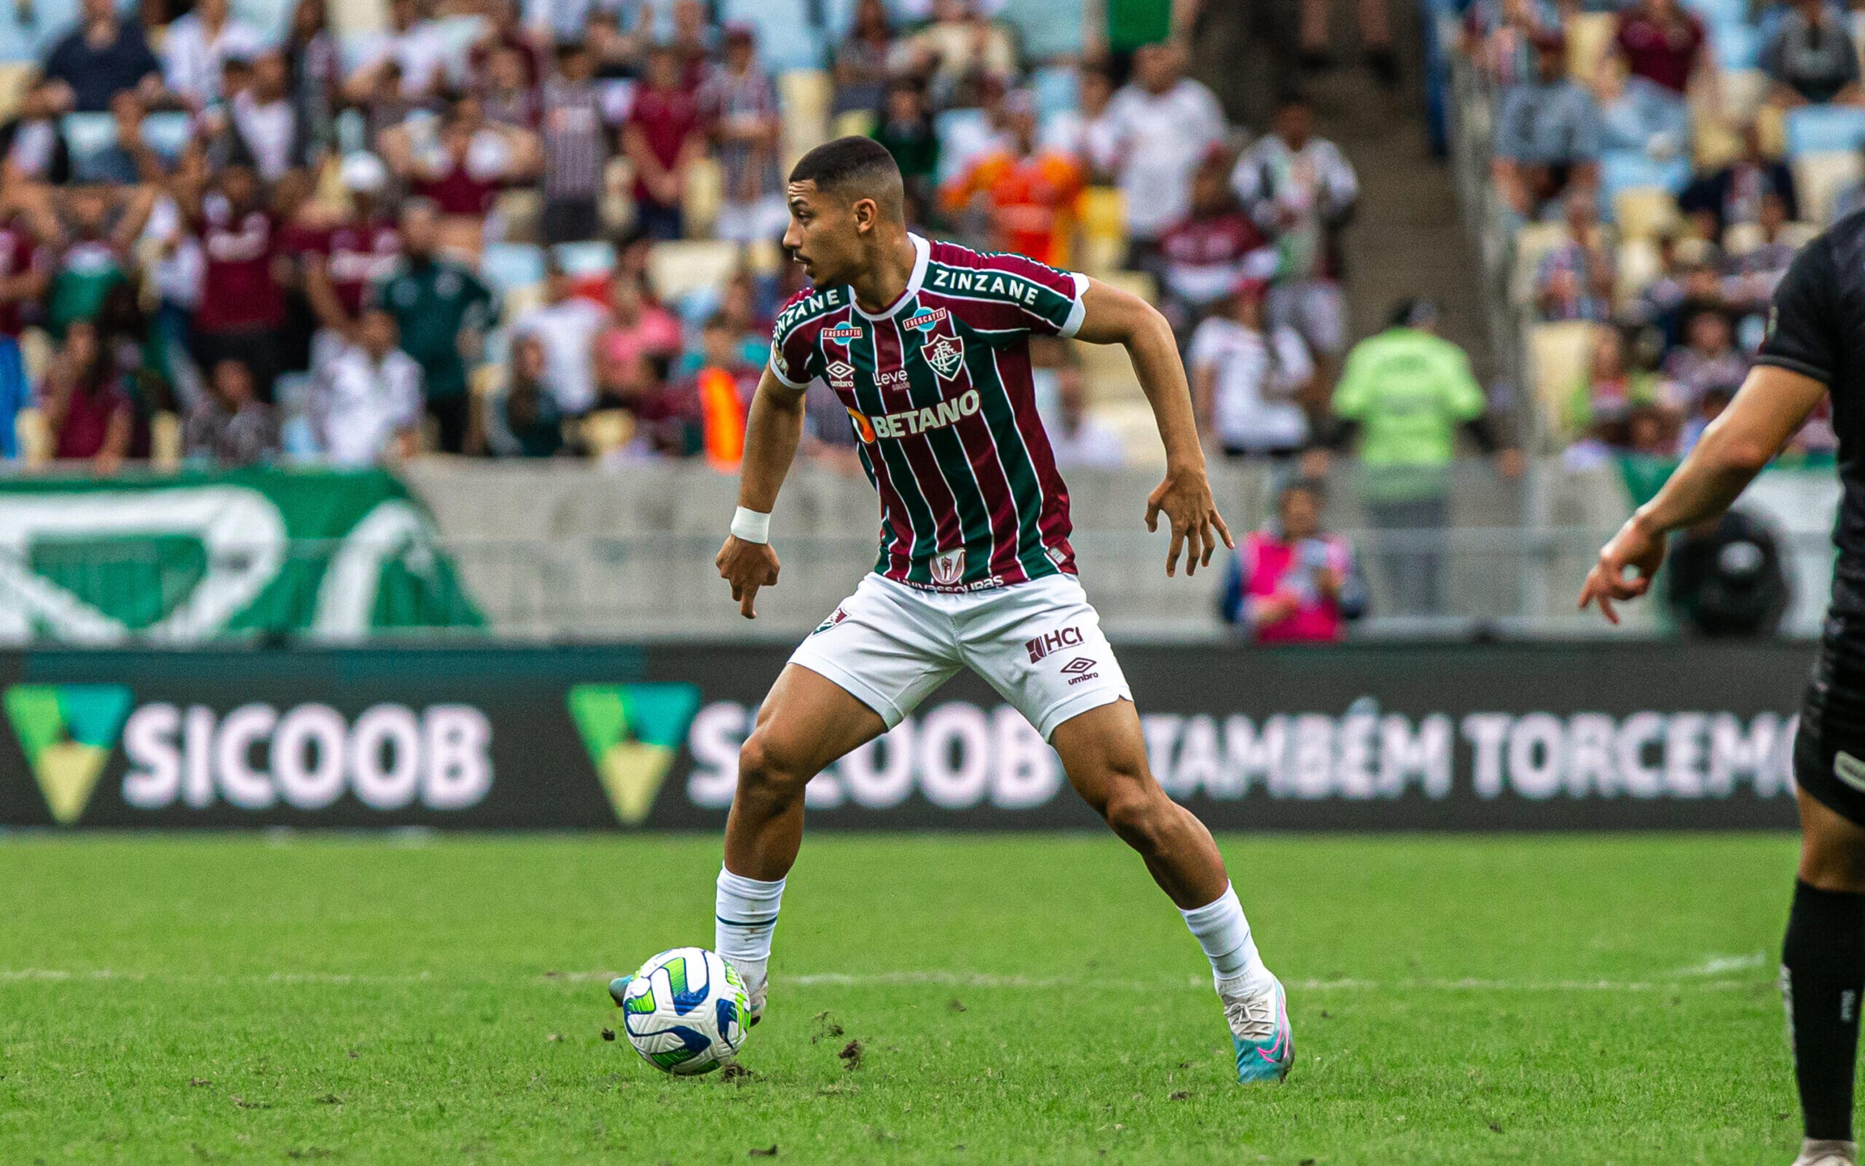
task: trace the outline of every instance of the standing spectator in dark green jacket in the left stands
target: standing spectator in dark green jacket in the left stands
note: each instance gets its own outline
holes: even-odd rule
[[[477,362],[496,306],[479,276],[435,250],[440,211],[425,198],[401,207],[401,265],[375,289],[395,317],[401,351],[421,366],[425,409],[440,425],[440,450],[464,453],[470,410],[466,362]]]

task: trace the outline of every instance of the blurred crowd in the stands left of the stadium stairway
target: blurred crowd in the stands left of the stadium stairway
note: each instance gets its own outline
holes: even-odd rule
[[[839,132],[899,159],[916,228],[1153,297],[1214,451],[1315,446],[1341,151],[1300,99],[1255,138],[1225,119],[1184,75],[1195,4],[1110,6],[1050,56],[998,7],[832,4],[811,56],[781,4],[298,0],[269,28],[82,0],[0,69],[0,453],[729,468],[800,284],[781,177]],[[1132,390],[1033,358],[1059,461],[1125,461],[1106,397]],[[852,468],[813,392],[808,453]]]

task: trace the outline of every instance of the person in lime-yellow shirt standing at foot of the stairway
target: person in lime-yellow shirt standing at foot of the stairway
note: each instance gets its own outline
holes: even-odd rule
[[[1444,610],[1444,530],[1458,427],[1496,453],[1503,476],[1522,470],[1520,451],[1501,448],[1486,410],[1470,358],[1438,336],[1430,300],[1399,302],[1391,326],[1347,354],[1333,390],[1335,444],[1358,435],[1367,517],[1386,532],[1378,558],[1397,614]]]

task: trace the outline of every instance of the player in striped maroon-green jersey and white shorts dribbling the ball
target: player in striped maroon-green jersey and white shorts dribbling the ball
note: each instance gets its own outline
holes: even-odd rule
[[[1167,453],[1147,526],[1166,515],[1166,575],[1181,550],[1190,575],[1231,535],[1205,481],[1171,328],[1085,276],[908,233],[901,172],[869,138],[811,149],[785,194],[783,244],[815,287],[778,315],[718,571],[755,618],[759,588],[778,582],[770,507],[817,377],[847,407],[880,494],[880,554],[791,657],[739,752],[716,950],[744,976],[753,1022],[804,785],[972,668],[1056,748],[1071,785],[1184,914],[1210,959],[1238,1080],[1281,1080],[1294,1060],[1283,987],[1257,955],[1210,832],[1147,770],[1132,694],[1076,582],[1069,493],[1029,381],[1029,334],[1126,347]],[[621,981],[610,991],[619,1002]]]

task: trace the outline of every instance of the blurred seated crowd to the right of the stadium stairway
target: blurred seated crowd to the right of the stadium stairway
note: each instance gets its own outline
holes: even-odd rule
[[[1865,205],[1865,13],[1824,0],[1475,0],[1496,220],[1554,444],[1678,457],[1729,403],[1798,244]],[[1833,448],[1822,409],[1796,437]]]

